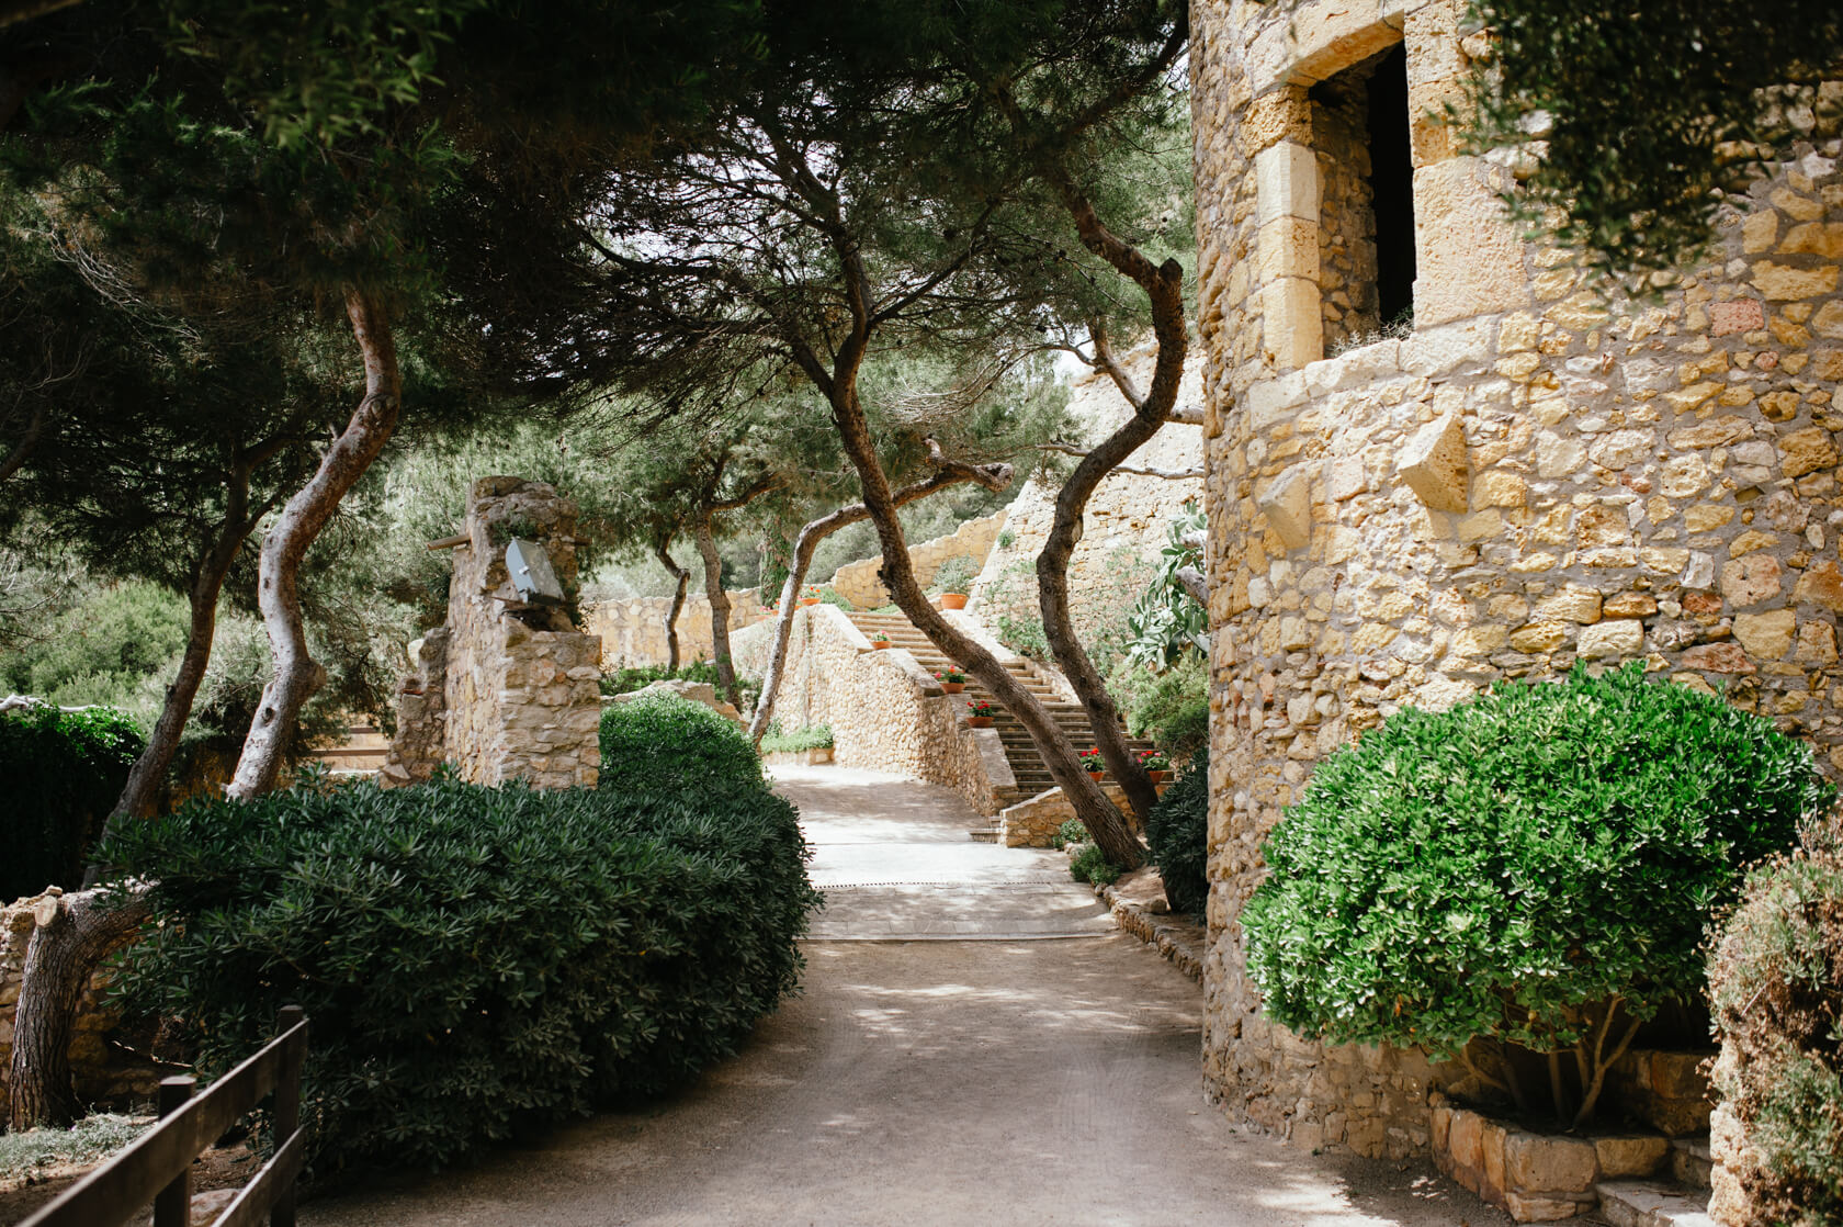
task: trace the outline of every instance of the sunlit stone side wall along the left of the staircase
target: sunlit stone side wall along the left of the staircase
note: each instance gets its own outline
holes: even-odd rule
[[[767,670],[774,627],[737,637],[737,668]],[[980,814],[997,814],[997,790],[1015,784],[992,729],[969,729],[964,705],[901,648],[877,649],[833,605],[794,613],[787,668],[776,699],[783,729],[829,725],[833,760],[947,784]]]

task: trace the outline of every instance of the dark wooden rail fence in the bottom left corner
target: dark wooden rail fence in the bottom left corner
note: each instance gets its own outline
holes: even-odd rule
[[[300,1066],[308,1017],[284,1006],[278,1035],[194,1098],[195,1079],[160,1083],[160,1124],[96,1168],[20,1227],[122,1227],[151,1201],[153,1227],[192,1227],[192,1161],[265,1094],[275,1092],[275,1155],[212,1227],[295,1227],[295,1177],[306,1159]]]

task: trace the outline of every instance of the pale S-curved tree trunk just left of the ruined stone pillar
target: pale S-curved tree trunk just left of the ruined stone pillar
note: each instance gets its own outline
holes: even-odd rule
[[[378,303],[356,288],[346,290],[346,317],[352,321],[352,338],[365,362],[365,399],[326,448],[308,483],[282,507],[275,528],[262,542],[256,602],[269,633],[275,677],[262,690],[262,703],[243,740],[243,756],[238,758],[236,775],[225,790],[238,801],[249,801],[275,788],[300,709],[326,681],[326,670],[308,649],[300,620],[300,563],[339,509],[339,500],[383,452],[404,408],[396,338],[389,317]]]

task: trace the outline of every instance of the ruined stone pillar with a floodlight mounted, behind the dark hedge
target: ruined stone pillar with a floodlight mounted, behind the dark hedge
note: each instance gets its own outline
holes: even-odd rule
[[[522,609],[505,570],[518,535],[575,579],[577,507],[542,482],[481,478],[448,589],[446,749],[461,779],[593,788],[601,768],[601,640],[558,609]]]

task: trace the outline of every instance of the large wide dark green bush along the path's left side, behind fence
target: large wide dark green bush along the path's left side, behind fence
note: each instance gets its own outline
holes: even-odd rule
[[[123,991],[184,1020],[205,1074],[306,1007],[321,1173],[684,1083],[794,989],[818,902],[765,788],[302,788],[188,804],[107,854],[158,882]]]

